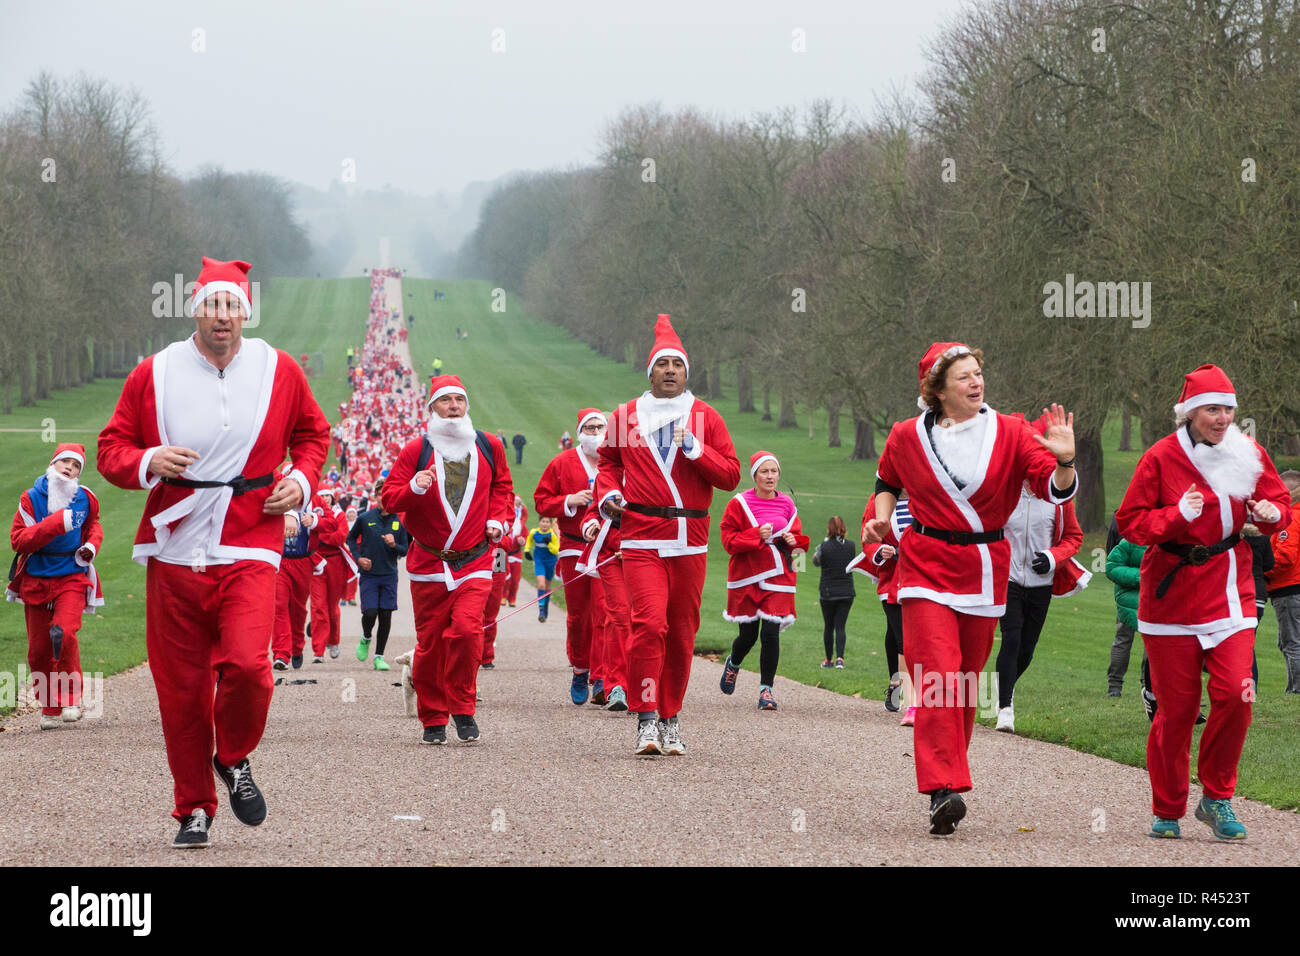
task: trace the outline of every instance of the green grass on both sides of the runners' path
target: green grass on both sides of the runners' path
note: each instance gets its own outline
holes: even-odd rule
[[[343,380],[348,345],[360,345],[367,302],[365,280],[278,280],[266,297],[266,317],[255,334],[287,349],[324,355],[322,375],[312,385],[322,407],[332,410],[347,394]],[[446,293],[434,299],[434,289]],[[558,450],[562,432],[576,431],[576,412],[585,406],[611,408],[646,388],[642,369],[598,356],[566,332],[526,316],[514,299],[504,312],[491,311],[486,282],[407,280],[406,308],[416,316],[411,351],[421,376],[428,376],[433,358],[447,372],[464,377],[471,398],[471,415],[478,428],[503,431],[508,437],[521,431],[528,438],[524,463],[511,464],[516,490],[532,502],[532,490],[546,462]],[[651,316],[637,320],[650,345]],[[455,338],[456,328],[469,332],[468,339]],[[690,343],[686,343],[688,349]],[[61,393],[40,407],[23,408],[0,428],[39,428],[42,419],[53,418],[60,436],[90,445],[107,420],[121,382],[96,382]],[[994,407],[997,395],[992,395]],[[758,414],[736,411],[734,388],[716,402],[724,415],[742,462],[759,449],[775,453],[783,463],[781,486],[792,492],[806,533],[814,542],[826,533],[827,519],[841,515],[855,528],[875,479],[874,462],[849,462],[848,447],[828,449],[824,414],[814,419],[809,438],[806,411],[800,410],[800,428],[777,429]],[[1013,411],[1013,410],[1005,410]],[[1136,428],[1136,424],[1135,424]],[[78,433],[79,429],[79,433]],[[39,434],[5,434],[9,454],[0,460],[0,481],[17,498],[48,460],[48,446]],[[1114,509],[1136,464],[1138,454],[1112,451],[1118,446],[1118,423],[1106,429],[1106,503]],[[514,462],[514,457],[511,457]],[[108,592],[108,607],[87,622],[83,654],[87,670],[105,674],[138,663],[143,648],[143,568],[129,561],[143,498],[112,489],[88,479],[101,492],[105,510],[105,549],[101,568]],[[748,486],[748,479],[741,488]],[[714,501],[714,524],[729,498]],[[1071,598],[1057,600],[1048,618],[1034,665],[1017,687],[1017,730],[1020,734],[1066,744],[1135,766],[1145,762],[1148,723],[1138,692],[1140,649],[1135,652],[1122,698],[1108,698],[1106,665],[1114,636],[1114,604],[1110,583],[1104,578],[1093,549],[1100,536],[1088,537],[1080,559],[1097,574],[1092,587]],[[1095,563],[1096,562],[1096,563]],[[701,652],[725,652],[734,626],[722,618],[727,561],[714,532],[708,579],[705,585],[702,624],[697,639]],[[822,670],[822,618],[818,606],[818,576],[812,571],[800,581],[801,619],[783,635],[780,674],[793,680],[816,684],[838,693],[880,700],[888,680],[883,635],[884,615],[870,583],[862,579],[858,600],[849,618],[848,666],[842,671]],[[529,588],[524,593],[530,596]],[[21,610],[9,605],[0,611],[0,670],[12,671],[25,657]],[[556,637],[562,628],[556,628]],[[1277,646],[1277,627],[1271,611],[1258,633],[1260,698],[1254,724],[1242,758],[1239,792],[1274,806],[1300,805],[1300,766],[1297,766],[1296,723],[1300,698],[1283,697],[1284,670]],[[996,654],[996,646],[994,646]],[[757,650],[745,662],[758,666]],[[989,662],[992,669],[992,661]],[[692,693],[715,692],[698,687]],[[741,678],[737,705],[757,698],[758,680]],[[985,721],[991,723],[991,721]],[[900,730],[900,734],[905,731]]]

